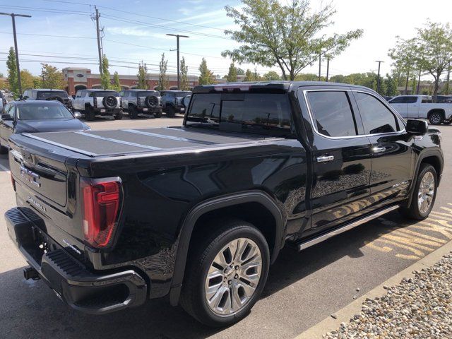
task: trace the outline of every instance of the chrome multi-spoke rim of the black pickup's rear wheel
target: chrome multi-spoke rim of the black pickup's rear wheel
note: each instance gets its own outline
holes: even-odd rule
[[[206,277],[205,296],[210,310],[218,316],[240,311],[254,295],[261,270],[261,250],[251,239],[234,239],[224,246]]]

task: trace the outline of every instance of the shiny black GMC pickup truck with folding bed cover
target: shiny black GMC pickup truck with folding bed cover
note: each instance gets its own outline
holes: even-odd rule
[[[283,246],[396,209],[427,218],[440,142],[368,88],[199,86],[180,127],[12,136],[8,232],[25,278],[74,309],[169,296],[226,326],[256,303]]]

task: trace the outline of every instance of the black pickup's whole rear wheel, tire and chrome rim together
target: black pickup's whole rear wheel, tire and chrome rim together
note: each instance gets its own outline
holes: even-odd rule
[[[248,244],[243,242],[244,239]],[[238,246],[244,249],[240,256],[243,261],[233,258],[231,250],[227,251],[229,248],[227,246],[237,244],[237,240],[240,240],[242,245],[246,244],[243,247]],[[260,261],[258,254],[260,254]],[[214,260],[215,266],[213,266]],[[196,242],[196,246],[191,249],[187,258],[186,275],[182,285],[182,307],[194,319],[207,326],[220,327],[236,323],[249,313],[259,299],[267,280],[269,261],[268,244],[256,227],[242,220],[215,222],[215,231]],[[223,266],[217,262],[222,262],[226,268],[220,269]],[[253,266],[251,263],[256,265]],[[248,268],[241,270],[239,266],[241,264],[247,265]],[[207,279],[210,270],[217,270],[219,275]],[[251,279],[247,280],[248,283],[244,282],[243,277],[249,278],[251,275],[257,278],[254,281],[257,285],[252,286]],[[208,293],[206,288],[209,285],[211,286]],[[246,295],[245,288],[249,291],[249,295]],[[243,305],[239,306],[237,299],[230,299],[232,291],[235,292],[234,296],[244,303]],[[213,295],[210,297],[212,302],[210,306],[209,295]],[[217,307],[215,307],[215,301],[218,304]],[[219,312],[223,314],[220,315]]]

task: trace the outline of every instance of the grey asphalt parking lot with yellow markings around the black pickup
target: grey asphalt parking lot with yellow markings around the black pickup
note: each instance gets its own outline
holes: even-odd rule
[[[92,129],[179,126],[172,119],[97,119]],[[445,168],[432,215],[406,222],[397,212],[302,252],[286,248],[270,268],[261,300],[230,328],[200,325],[165,299],[104,316],[66,307],[42,281],[25,280],[25,260],[0,219],[0,338],[295,338],[383,281],[452,240],[452,126],[442,132]],[[15,206],[8,159],[0,156],[0,213]]]

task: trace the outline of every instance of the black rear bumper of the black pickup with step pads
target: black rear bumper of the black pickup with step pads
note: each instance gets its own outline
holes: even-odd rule
[[[30,266],[73,309],[105,314],[145,302],[147,285],[135,270],[107,274],[91,272],[42,232],[19,208],[8,210],[5,219],[9,236]],[[43,244],[45,253],[40,248]]]

